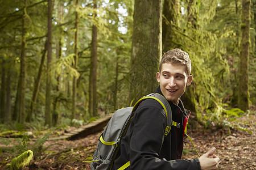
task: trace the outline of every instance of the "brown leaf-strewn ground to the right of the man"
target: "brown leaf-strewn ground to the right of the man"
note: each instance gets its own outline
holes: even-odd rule
[[[225,134],[223,130],[212,133],[192,130],[190,135],[201,155],[209,148],[216,147],[216,155],[221,159],[219,169],[256,169],[255,118],[253,114],[238,119],[238,124],[250,130],[252,134],[243,130],[232,130],[230,135]],[[190,152],[184,154],[183,159],[196,158],[195,149],[188,139],[184,148]]]

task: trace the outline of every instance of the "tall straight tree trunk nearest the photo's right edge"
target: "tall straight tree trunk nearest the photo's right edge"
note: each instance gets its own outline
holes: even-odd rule
[[[243,111],[249,109],[249,80],[248,80],[248,61],[250,50],[250,0],[242,0],[242,39],[241,54],[239,64],[239,90],[238,107]]]

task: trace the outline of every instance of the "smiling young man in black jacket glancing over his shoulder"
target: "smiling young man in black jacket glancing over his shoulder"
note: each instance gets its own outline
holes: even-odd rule
[[[192,82],[191,60],[180,49],[170,50],[162,57],[156,73],[160,86],[156,89],[166,97],[172,109],[172,120],[180,126],[172,126],[164,137],[167,125],[162,105],[153,99],[142,101],[121,141],[113,169],[130,161],[126,169],[217,169],[220,159],[214,155],[215,148],[199,159],[182,160],[184,129],[190,112],[183,106],[180,96]]]

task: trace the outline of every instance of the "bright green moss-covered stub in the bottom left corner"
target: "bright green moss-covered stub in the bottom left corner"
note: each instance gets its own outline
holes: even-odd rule
[[[11,160],[10,170],[21,170],[28,165],[33,158],[33,152],[31,150],[25,151],[18,157]]]

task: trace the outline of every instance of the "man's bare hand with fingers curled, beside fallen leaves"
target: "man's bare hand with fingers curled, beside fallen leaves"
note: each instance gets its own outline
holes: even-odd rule
[[[214,155],[216,148],[211,148],[206,154],[202,155],[199,158],[201,170],[207,169],[217,169],[218,163],[220,162],[220,158],[218,156]]]

